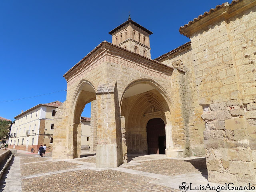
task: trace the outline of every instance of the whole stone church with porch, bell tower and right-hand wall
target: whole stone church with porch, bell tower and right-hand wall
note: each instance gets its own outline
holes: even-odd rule
[[[210,182],[256,184],[256,1],[233,0],[180,27],[190,42],[152,60],[152,32],[130,17],[73,66],[53,158],[80,157],[91,102],[96,167],[127,154],[206,157]]]

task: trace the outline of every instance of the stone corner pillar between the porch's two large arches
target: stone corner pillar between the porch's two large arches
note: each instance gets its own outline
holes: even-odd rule
[[[122,164],[122,133],[116,84],[98,87],[96,108],[96,168],[116,168]]]

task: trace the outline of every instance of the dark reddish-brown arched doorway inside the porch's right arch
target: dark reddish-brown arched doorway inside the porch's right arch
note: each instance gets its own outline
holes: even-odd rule
[[[162,119],[155,118],[148,121],[147,139],[149,154],[165,154],[165,125]]]

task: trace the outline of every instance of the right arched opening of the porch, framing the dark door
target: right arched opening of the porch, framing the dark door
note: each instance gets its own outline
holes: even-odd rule
[[[132,82],[124,90],[120,106],[121,115],[124,117],[123,148],[127,147],[128,154],[165,154],[166,147],[173,147],[171,102],[168,94],[159,84],[151,80]],[[161,127],[156,138],[153,138],[147,130],[154,121]],[[154,142],[154,147],[150,146],[152,142]],[[160,148],[159,142],[161,142]],[[125,158],[126,154],[123,156]]]

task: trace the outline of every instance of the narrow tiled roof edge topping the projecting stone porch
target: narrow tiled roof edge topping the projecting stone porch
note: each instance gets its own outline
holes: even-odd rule
[[[98,48],[100,48],[104,43],[106,43],[106,44],[108,44],[108,45],[111,45],[111,46],[114,46],[114,47],[116,47],[116,48],[125,50],[125,51],[127,51],[127,52],[130,52],[130,53],[132,53],[132,54],[135,54],[135,55],[140,56],[140,57],[142,57],[142,58],[145,58],[145,59],[147,59],[147,60],[150,60],[150,61],[152,61],[152,62],[154,62],[154,63],[157,63],[157,64],[159,64],[159,65],[161,65],[161,66],[164,66],[164,67],[166,67],[166,68],[174,69],[174,67],[172,67],[172,66],[167,66],[167,65],[162,64],[162,63],[160,63],[160,62],[158,62],[158,61],[156,61],[156,60],[152,60],[152,59],[147,58],[147,57],[144,57],[144,56],[142,56],[142,55],[140,55],[140,54],[137,54],[137,53],[134,53],[134,52],[132,52],[132,51],[126,50],[126,49],[124,49],[124,48],[122,48],[122,47],[120,47],[120,46],[114,45],[114,44],[112,44],[112,43],[110,43],[110,42],[103,41],[103,42],[101,42],[98,46],[96,46],[90,53],[88,53],[84,58],[82,58],[82,60],[80,60],[77,64],[75,64],[70,70],[68,70],[68,72],[66,72],[63,76],[65,77],[70,71],[72,71],[74,68],[76,68],[76,66],[78,66],[80,63],[82,63],[84,60],[86,60],[86,58],[88,58],[91,54],[93,54],[93,53],[94,53]],[[185,72],[185,71],[182,70],[182,69],[178,69],[178,70],[180,70],[180,71],[182,71],[182,72]]]

